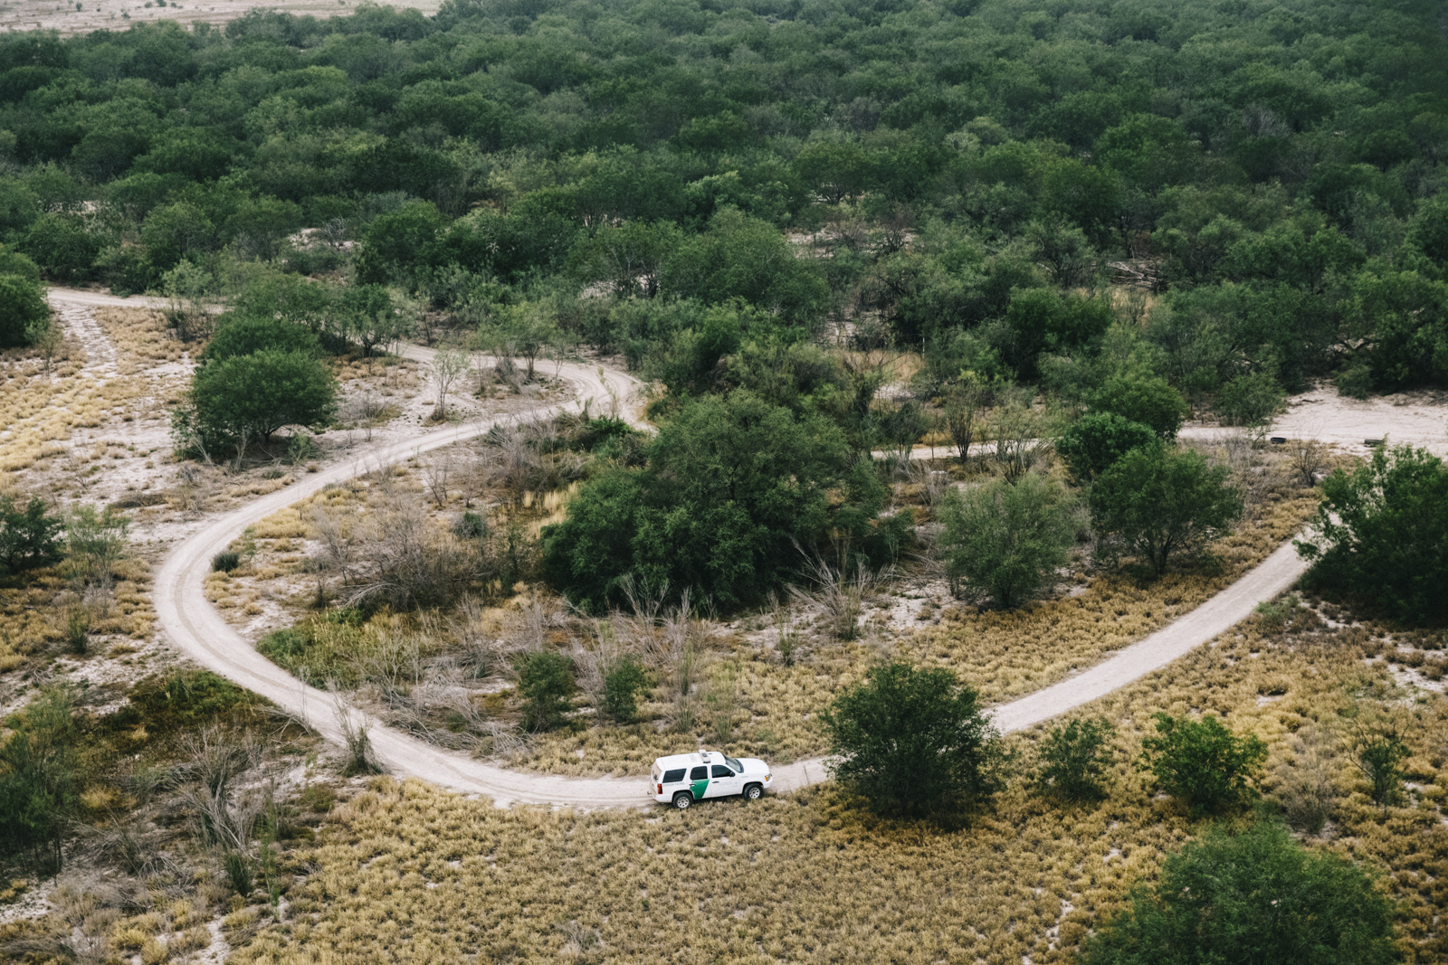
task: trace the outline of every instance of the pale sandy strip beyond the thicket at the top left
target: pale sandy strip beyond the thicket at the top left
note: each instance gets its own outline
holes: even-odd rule
[[[442,0],[418,3],[390,3],[398,9],[417,9],[426,14],[437,13]],[[319,20],[352,13],[359,0],[290,0],[288,3],[252,3],[251,0],[187,0],[156,6],[153,0],[83,0],[75,3],[56,0],[4,0],[0,1],[0,30],[56,30],[61,36],[90,33],[91,30],[126,30],[132,23],[175,20],[193,23],[224,25],[243,16],[248,10],[282,10],[295,16],[314,16]]]

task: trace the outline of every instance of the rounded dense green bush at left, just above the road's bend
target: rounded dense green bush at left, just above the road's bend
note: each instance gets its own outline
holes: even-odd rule
[[[284,425],[321,428],[336,414],[336,379],[306,352],[264,349],[197,369],[195,427],[206,440],[269,440]]]

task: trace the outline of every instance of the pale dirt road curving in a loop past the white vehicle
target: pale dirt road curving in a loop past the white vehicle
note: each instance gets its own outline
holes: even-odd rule
[[[52,289],[51,299],[52,302],[85,305],[148,305],[149,302],[149,299],[130,301],[93,292],[74,292],[72,298],[72,294],[64,289]],[[403,346],[401,354],[426,362],[433,356],[433,352],[418,346]],[[631,376],[621,372],[605,372],[601,367],[563,365],[560,375],[575,385],[579,399],[604,398],[617,392],[624,401],[639,388],[637,381]],[[306,476],[287,489],[262,496],[240,509],[210,521],[177,545],[156,573],[155,605],[161,626],[178,650],[203,667],[301,715],[327,739],[340,744],[342,728],[336,719],[332,697],[303,684],[256,652],[206,600],[203,580],[210,570],[211,556],[239,537],[248,525],[320,492],[330,483],[340,483],[418,451],[472,438],[504,421],[536,418],[550,409],[576,407],[578,402],[571,404],[571,407],[537,407],[529,412],[511,415],[508,420],[449,427],[426,433],[407,443],[382,446],[348,463]],[[1271,599],[1292,586],[1305,569],[1306,566],[1297,558],[1292,544],[1283,544],[1260,566],[1163,629],[1067,680],[995,707],[992,713],[996,725],[1005,732],[1032,726],[1164,667],[1245,619],[1257,603]],[[361,723],[361,719],[353,715],[353,722]],[[375,723],[369,726],[369,736],[378,758],[394,774],[420,777],[466,794],[484,794],[500,804],[521,802],[614,807],[644,806],[650,800],[646,797],[641,777],[627,780],[573,778],[510,771],[440,749]],[[778,767],[775,775],[776,791],[795,790],[827,777],[822,758]]]

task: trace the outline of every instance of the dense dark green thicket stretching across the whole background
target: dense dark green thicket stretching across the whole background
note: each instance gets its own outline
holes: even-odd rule
[[[361,281],[439,307],[849,307],[1069,389],[1053,359],[1112,318],[1076,289],[1118,272],[1166,292],[1151,347],[1193,399],[1448,379],[1423,0],[449,0],[13,33],[0,64],[0,237],[54,279],[158,285],[223,247],[308,271],[350,237]],[[830,256],[794,258],[785,230],[825,223]]]

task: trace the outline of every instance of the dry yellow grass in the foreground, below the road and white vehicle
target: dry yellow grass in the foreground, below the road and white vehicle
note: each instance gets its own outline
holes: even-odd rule
[[[1225,713],[1267,741],[1268,773],[1292,767],[1295,732],[1332,732],[1354,694],[1389,686],[1381,663],[1364,663],[1363,638],[1244,626],[1089,709],[1118,725],[1105,802],[1063,809],[1016,778],[956,832],[875,822],[828,787],[686,813],[578,813],[498,810],[379,778],[298,855],[313,871],[288,896],[292,920],[233,961],[1066,962],[1132,883],[1202,828],[1156,800],[1132,767],[1150,713]],[[1284,681],[1284,694],[1268,696]],[[1406,961],[1439,961],[1448,713],[1441,697],[1410,696],[1403,713],[1422,790],[1381,812],[1337,757],[1334,836],[1310,846],[1383,872]],[[1031,735],[1014,744],[1030,761]]]

